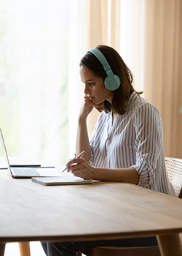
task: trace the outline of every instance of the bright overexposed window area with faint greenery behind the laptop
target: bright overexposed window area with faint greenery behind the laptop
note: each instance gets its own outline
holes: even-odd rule
[[[0,0],[0,127],[10,156],[68,159],[69,1]]]

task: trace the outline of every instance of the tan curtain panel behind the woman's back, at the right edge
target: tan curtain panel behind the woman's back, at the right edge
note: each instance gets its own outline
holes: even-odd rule
[[[144,97],[159,110],[164,126],[166,157],[182,157],[181,1],[145,4]],[[180,97],[181,95],[181,97]]]

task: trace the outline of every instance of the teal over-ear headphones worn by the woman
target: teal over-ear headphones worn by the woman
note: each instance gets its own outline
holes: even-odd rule
[[[98,48],[92,48],[91,50],[88,50],[90,53],[93,53],[95,57],[98,58],[100,63],[103,65],[103,69],[106,71],[107,77],[104,80],[104,85],[106,86],[106,89],[110,91],[115,91],[120,86],[120,79],[119,76],[114,75],[110,65],[108,64],[108,61],[103,56],[103,53],[98,50]]]

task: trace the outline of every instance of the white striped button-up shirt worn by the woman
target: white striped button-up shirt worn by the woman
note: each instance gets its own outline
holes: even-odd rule
[[[90,165],[103,168],[134,167],[138,185],[175,195],[167,177],[163,146],[162,118],[143,97],[132,92],[127,112],[112,124],[112,113],[100,113],[90,135]]]

